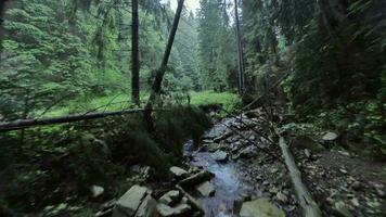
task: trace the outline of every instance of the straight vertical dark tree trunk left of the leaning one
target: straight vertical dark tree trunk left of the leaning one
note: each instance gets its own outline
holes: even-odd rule
[[[132,0],[131,5],[131,100],[140,105],[140,58],[139,58],[139,16],[138,0]]]

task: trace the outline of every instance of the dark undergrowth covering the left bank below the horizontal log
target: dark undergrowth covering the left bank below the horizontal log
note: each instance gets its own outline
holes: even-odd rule
[[[0,216],[44,207],[75,214],[83,209],[79,204],[95,202],[93,184],[105,190],[98,201],[143,181],[133,176],[133,165],[150,166],[153,179],[167,177],[182,157],[183,142],[200,139],[210,122],[201,110],[180,106],[155,116],[156,133],[145,126],[138,114],[1,135]]]

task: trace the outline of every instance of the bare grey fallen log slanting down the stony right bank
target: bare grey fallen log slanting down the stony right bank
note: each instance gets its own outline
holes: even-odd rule
[[[279,135],[279,133],[278,133]],[[279,145],[282,150],[285,165],[288,169],[291,181],[294,186],[295,193],[305,217],[321,217],[322,213],[314,202],[311,193],[301,181],[301,173],[297,168],[294,156],[291,154],[288,145],[283,137],[279,136]]]

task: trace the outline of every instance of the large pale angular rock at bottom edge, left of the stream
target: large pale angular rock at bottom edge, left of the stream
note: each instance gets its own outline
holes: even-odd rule
[[[115,204],[113,217],[134,216],[149,190],[144,187],[133,186]]]

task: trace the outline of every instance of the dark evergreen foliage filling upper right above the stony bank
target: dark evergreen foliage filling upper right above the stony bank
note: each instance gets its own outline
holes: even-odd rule
[[[386,4],[346,2],[243,1],[247,76],[263,86],[280,77],[272,65],[287,65],[282,87],[299,122],[384,149]]]

